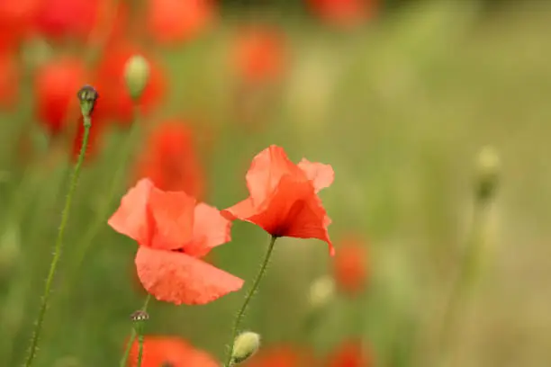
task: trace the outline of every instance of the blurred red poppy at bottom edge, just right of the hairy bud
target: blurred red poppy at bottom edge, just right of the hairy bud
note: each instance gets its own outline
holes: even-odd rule
[[[312,354],[292,345],[261,349],[246,367],[304,367],[315,365]]]

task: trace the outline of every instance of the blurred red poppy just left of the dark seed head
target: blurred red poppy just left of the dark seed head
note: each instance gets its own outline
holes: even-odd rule
[[[71,106],[77,108],[77,92],[85,84],[86,69],[77,58],[62,58],[43,65],[34,80],[39,121],[51,134],[63,130]]]

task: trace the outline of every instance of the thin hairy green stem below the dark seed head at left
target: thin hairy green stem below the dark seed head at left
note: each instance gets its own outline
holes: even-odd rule
[[[82,168],[82,164],[86,155],[86,147],[88,146],[88,138],[90,136],[90,128],[92,126],[92,121],[90,117],[85,117],[84,126],[84,138],[82,139],[82,146],[80,147],[77,165],[75,166],[73,174],[70,178],[67,199],[65,200],[65,207],[61,212],[61,223],[59,224],[58,237],[56,239],[56,244],[54,247],[54,255],[50,263],[50,271],[48,273],[48,278],[46,278],[46,285],[44,286],[41,308],[39,310],[38,318],[36,319],[36,324],[32,332],[31,346],[29,348],[29,354],[25,362],[25,367],[30,367],[36,356],[38,341],[39,337],[41,336],[42,323],[44,321],[44,316],[46,315],[46,309],[48,308],[48,303],[50,300],[51,284],[58,268],[59,258],[61,257],[61,249],[63,247],[63,235],[65,233],[65,228],[67,227],[71,202],[73,201],[73,195],[77,189],[78,176],[80,175],[80,170]]]

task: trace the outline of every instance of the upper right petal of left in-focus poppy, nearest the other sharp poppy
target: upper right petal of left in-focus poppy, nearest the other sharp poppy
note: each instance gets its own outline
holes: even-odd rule
[[[231,222],[221,216],[220,210],[203,202],[195,206],[194,235],[185,254],[203,257],[212,247],[230,242]]]

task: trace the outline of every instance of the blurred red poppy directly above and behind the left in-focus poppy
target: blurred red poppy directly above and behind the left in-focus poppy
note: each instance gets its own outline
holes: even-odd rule
[[[185,121],[164,121],[149,134],[139,159],[138,176],[149,177],[161,190],[184,191],[203,198],[203,167],[196,153],[194,132]]]

